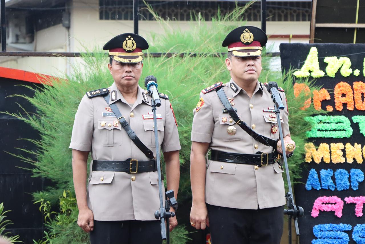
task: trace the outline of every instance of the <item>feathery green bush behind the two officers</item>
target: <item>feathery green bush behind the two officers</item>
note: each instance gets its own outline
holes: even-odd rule
[[[165,30],[164,35],[154,34],[151,40],[149,52],[185,52],[198,53],[196,57],[185,55],[184,57],[172,56],[152,58],[144,60],[140,85],[143,87],[143,78],[154,75],[158,78],[159,91],[168,94],[173,105],[180,136],[181,151],[181,178],[178,194],[179,205],[188,204],[191,201],[191,188],[189,177],[190,161],[190,133],[192,123],[192,110],[199,100],[201,89],[216,82],[228,82],[230,74],[224,64],[225,56],[214,56],[215,53],[226,52],[222,48],[222,40],[226,34],[235,27],[244,25],[239,22],[243,16],[245,7],[237,7],[224,16],[218,16],[212,22],[202,20],[200,14],[196,14],[195,22],[191,22],[190,31],[172,29],[169,23],[155,16]],[[212,31],[212,26],[214,30]],[[72,133],[74,115],[78,104],[85,91],[109,87],[113,79],[107,70],[108,59],[100,54],[100,49],[95,48],[92,56],[90,53],[82,57],[82,62],[73,64],[73,73],[66,75],[66,79],[53,80],[53,86],[44,86],[35,90],[34,97],[20,95],[30,101],[37,108],[37,114],[26,113],[11,114],[24,120],[34,129],[39,131],[40,140],[31,140],[38,146],[37,151],[23,150],[32,154],[32,158],[19,156],[23,161],[34,167],[30,169],[34,176],[41,176],[51,180],[54,184],[45,192],[34,193],[34,199],[40,203],[40,210],[47,221],[45,237],[38,244],[45,243],[87,243],[87,234],[77,226],[77,207],[73,196],[72,181],[72,155],[68,148]],[[99,54],[98,54],[99,53]],[[313,106],[307,110],[301,110],[307,99],[304,93],[294,96],[292,72],[282,76],[280,72],[269,70],[270,58],[262,56],[260,81],[275,80],[278,85],[286,90],[289,105],[289,125],[291,135],[296,142],[296,153],[289,159],[292,179],[300,177],[300,165],[304,162],[305,131],[310,125],[304,121],[304,117],[318,113]],[[303,80],[312,90],[316,87]],[[31,89],[31,87],[29,87]],[[10,152],[11,153],[11,152]],[[16,155],[15,155],[16,156]],[[59,199],[59,196],[62,196]],[[51,206],[59,200],[59,213],[51,212]],[[183,223],[187,216],[179,216],[179,222]],[[181,220],[180,220],[181,219]],[[187,230],[178,226],[172,233],[174,244],[183,244],[188,240]]]

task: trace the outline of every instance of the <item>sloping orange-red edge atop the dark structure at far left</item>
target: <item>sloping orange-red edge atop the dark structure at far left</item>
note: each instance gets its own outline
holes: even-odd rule
[[[59,79],[51,75],[37,74],[25,70],[17,70],[5,67],[0,67],[0,77],[50,86],[52,86],[52,80]]]

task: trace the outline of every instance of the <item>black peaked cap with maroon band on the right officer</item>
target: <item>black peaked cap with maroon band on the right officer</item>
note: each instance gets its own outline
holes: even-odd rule
[[[268,37],[260,28],[241,26],[226,36],[222,46],[228,46],[228,52],[236,57],[257,57],[261,56],[267,41]]]

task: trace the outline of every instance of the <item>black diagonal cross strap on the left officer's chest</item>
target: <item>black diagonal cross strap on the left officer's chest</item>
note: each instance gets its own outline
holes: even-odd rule
[[[109,93],[104,96],[105,101],[109,104]],[[149,159],[153,159],[153,153],[145,144],[139,140],[138,136],[135,134],[134,130],[130,127],[126,119],[120,113],[118,107],[115,104],[110,104],[110,108],[112,109],[114,115],[118,118],[120,125],[122,125],[123,129],[127,132],[129,138],[131,138],[132,142],[142,151]]]

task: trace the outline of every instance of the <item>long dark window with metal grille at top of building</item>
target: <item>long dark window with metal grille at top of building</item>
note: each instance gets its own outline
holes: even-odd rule
[[[201,13],[201,16],[210,21],[217,15],[218,9],[226,14],[234,9],[234,2],[228,1],[147,1],[153,10],[165,20],[190,20],[191,13]],[[139,0],[139,20],[154,20],[153,15],[145,4]],[[246,2],[238,2],[239,6]],[[132,20],[133,0],[99,0],[99,18],[103,20]],[[311,2],[270,1],[267,4],[267,21],[310,21]],[[248,21],[261,21],[261,4],[254,3],[242,16]]]

